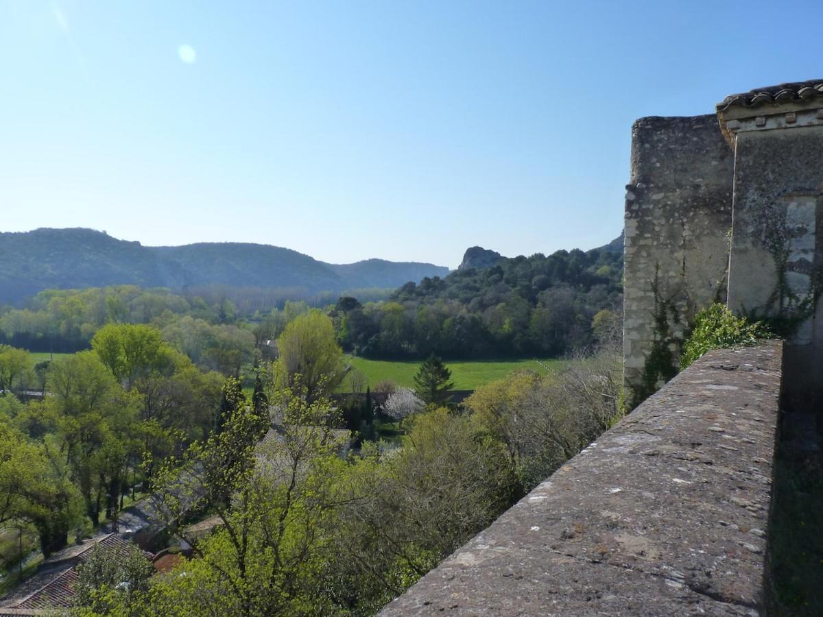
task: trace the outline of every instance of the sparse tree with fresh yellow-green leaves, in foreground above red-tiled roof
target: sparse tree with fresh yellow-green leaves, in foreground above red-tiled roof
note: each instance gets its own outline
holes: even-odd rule
[[[322,574],[339,508],[333,480],[346,467],[331,430],[339,419],[328,401],[294,392],[274,404],[282,416],[275,437],[258,444],[267,424],[242,406],[220,434],[189,448],[183,468],[197,473],[166,466],[158,476],[153,499],[170,522],[207,508],[221,524],[207,539],[172,527],[200,559],[178,567],[185,576],[157,582],[147,614],[333,614]]]

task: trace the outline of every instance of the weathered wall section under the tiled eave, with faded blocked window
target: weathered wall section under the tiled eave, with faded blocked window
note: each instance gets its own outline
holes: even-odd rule
[[[737,132],[736,142],[729,307],[805,315],[790,339],[792,355],[805,358],[797,365],[805,364],[819,386],[823,304],[815,293],[823,282],[823,126]]]

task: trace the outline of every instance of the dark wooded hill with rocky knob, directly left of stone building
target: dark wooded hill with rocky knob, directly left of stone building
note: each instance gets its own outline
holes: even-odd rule
[[[473,247],[458,271],[407,283],[388,302],[341,299],[333,312],[340,341],[373,358],[564,355],[619,321],[618,244],[492,259],[497,253]],[[466,267],[480,254],[491,265]]]

